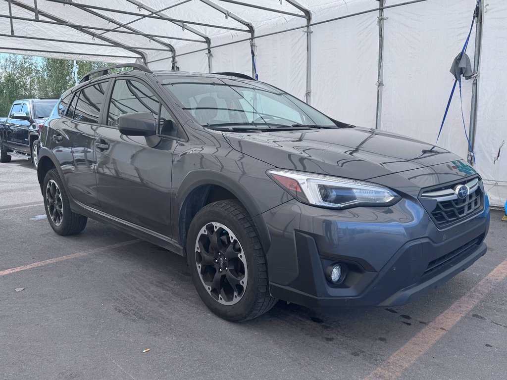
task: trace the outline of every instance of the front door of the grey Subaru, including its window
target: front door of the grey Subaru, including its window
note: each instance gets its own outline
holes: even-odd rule
[[[133,79],[115,81],[105,111],[106,125],[95,134],[98,199],[103,211],[170,236],[172,152],[177,141],[160,135],[161,142],[150,147],[142,136],[121,134],[118,117],[151,112],[162,133],[165,126],[175,124],[174,118],[147,84]]]

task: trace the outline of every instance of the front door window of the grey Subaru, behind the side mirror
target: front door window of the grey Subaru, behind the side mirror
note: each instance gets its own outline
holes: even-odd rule
[[[159,107],[158,99],[146,86],[135,81],[116,81],[107,113],[107,125],[118,127],[118,117],[132,112],[150,112],[158,120]]]

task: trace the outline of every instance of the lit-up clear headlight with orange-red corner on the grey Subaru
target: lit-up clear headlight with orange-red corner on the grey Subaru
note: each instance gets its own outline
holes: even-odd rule
[[[390,206],[401,199],[391,189],[370,182],[294,170],[272,169],[266,173],[298,201],[314,206]]]

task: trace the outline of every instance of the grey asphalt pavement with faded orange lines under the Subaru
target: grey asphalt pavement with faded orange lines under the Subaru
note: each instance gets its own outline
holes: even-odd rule
[[[409,305],[280,301],[230,323],[203,305],[185,258],[93,220],[56,235],[35,169],[13,159],[0,164],[0,378],[505,379],[501,216],[486,256]]]

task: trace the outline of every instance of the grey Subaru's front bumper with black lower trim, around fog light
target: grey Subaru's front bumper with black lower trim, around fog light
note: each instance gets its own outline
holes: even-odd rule
[[[415,201],[326,210],[295,200],[262,215],[273,297],[304,306],[397,306],[442,285],[482,257],[489,208],[445,230]],[[343,283],[325,279],[343,263]]]

